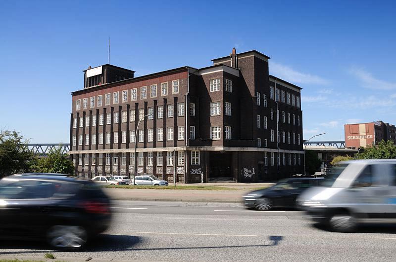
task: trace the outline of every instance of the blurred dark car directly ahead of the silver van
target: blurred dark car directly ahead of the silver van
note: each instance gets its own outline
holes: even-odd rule
[[[243,196],[245,206],[257,210],[273,207],[294,207],[296,198],[309,187],[318,186],[320,178],[290,178],[265,189],[254,190]]]

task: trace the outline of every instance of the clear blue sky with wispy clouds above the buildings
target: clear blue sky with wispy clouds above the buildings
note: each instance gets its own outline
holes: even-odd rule
[[[396,124],[394,1],[0,1],[0,129],[68,143],[70,92],[107,63],[136,76],[256,49],[303,88],[304,139]],[[315,139],[314,139],[315,140]]]

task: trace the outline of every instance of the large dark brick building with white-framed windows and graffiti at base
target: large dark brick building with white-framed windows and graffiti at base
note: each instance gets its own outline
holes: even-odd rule
[[[132,176],[137,166],[137,174],[197,183],[303,173],[301,88],[269,75],[268,59],[234,48],[200,69],[85,70],[84,89],[72,92],[76,174]]]

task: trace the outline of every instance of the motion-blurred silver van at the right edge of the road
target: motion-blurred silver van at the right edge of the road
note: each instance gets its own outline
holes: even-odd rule
[[[321,188],[300,195],[313,221],[351,232],[361,223],[396,222],[396,159],[351,160],[331,169]]]

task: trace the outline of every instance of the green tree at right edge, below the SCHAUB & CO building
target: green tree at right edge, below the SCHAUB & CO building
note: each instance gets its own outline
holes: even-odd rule
[[[356,154],[357,159],[379,159],[379,158],[396,158],[396,147],[390,140],[385,142],[382,140],[378,145],[363,148],[361,152]]]

